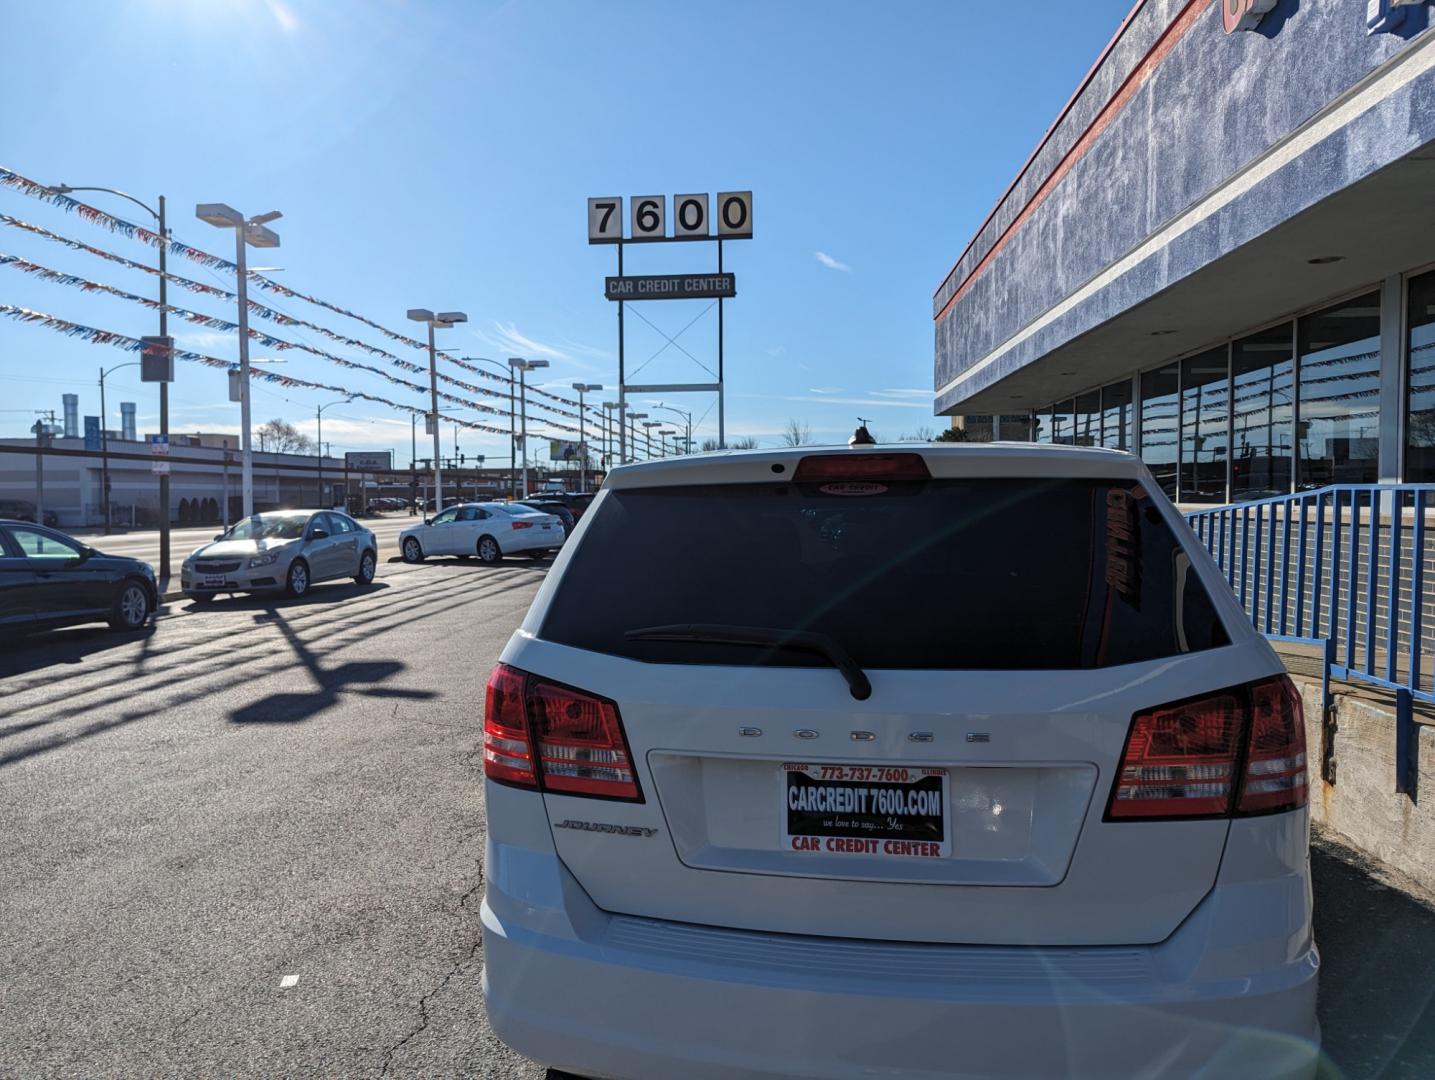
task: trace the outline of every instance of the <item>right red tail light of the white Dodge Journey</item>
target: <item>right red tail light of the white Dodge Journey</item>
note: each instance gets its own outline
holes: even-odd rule
[[[1300,696],[1276,676],[1137,713],[1106,819],[1227,818],[1304,805]]]

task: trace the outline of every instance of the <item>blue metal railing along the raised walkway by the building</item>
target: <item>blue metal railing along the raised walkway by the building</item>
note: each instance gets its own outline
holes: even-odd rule
[[[1435,485],[1343,483],[1185,515],[1258,631],[1322,650],[1327,726],[1332,678],[1395,691],[1395,790],[1409,795],[1413,704],[1435,704],[1422,657],[1435,641],[1425,597],[1431,509]],[[1322,775],[1333,780],[1325,742]]]

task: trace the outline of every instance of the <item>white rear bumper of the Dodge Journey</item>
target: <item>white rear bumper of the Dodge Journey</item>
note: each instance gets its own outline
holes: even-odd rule
[[[1319,954],[1230,925],[1248,892],[1159,945],[927,947],[616,916],[554,856],[488,862],[494,1031],[584,1076],[1309,1077],[1319,1054]]]

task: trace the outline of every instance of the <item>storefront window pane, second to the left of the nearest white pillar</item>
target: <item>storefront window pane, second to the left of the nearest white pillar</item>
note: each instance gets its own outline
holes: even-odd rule
[[[1234,425],[1231,498],[1290,492],[1296,360],[1292,326],[1281,323],[1231,346]]]

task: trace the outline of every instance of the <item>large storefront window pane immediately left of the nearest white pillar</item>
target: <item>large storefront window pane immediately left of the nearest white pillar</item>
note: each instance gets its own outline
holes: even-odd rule
[[[1375,483],[1380,445],[1380,294],[1299,323],[1302,491]]]

